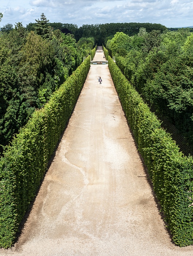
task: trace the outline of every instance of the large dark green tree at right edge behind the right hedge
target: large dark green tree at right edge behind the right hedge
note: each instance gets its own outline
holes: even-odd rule
[[[193,141],[193,54],[171,57],[144,86],[144,96]]]

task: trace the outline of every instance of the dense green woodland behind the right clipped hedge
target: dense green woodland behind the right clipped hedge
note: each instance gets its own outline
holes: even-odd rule
[[[193,143],[193,33],[140,28],[116,33],[107,48],[143,99]]]

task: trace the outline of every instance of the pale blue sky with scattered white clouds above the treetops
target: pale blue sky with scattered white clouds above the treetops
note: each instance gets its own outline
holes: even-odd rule
[[[111,22],[193,26],[193,0],[0,0],[0,12],[0,27],[16,22],[26,26],[40,19],[42,12],[50,22],[73,23],[78,27]]]

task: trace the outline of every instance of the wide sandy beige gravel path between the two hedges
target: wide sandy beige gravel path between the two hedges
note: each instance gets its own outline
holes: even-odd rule
[[[193,255],[165,231],[108,65],[91,65],[23,233],[0,255]]]

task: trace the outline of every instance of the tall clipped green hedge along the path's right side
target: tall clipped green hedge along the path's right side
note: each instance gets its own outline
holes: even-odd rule
[[[169,133],[108,57],[117,93],[144,158],[165,220],[178,246],[193,244],[193,158],[185,157]]]

